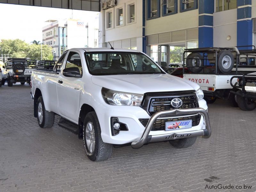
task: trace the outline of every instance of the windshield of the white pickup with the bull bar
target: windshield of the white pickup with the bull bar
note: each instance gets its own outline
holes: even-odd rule
[[[92,75],[164,73],[146,55],[138,52],[85,52]]]

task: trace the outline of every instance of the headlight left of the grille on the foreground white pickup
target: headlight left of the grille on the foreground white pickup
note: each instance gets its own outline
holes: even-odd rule
[[[141,94],[116,92],[106,88],[101,89],[103,99],[109,105],[140,106],[143,96]]]

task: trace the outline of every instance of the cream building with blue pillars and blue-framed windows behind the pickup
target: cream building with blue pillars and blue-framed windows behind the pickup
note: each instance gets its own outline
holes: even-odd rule
[[[181,62],[184,48],[256,45],[256,1],[103,0],[101,8],[100,47],[136,48],[155,61]]]

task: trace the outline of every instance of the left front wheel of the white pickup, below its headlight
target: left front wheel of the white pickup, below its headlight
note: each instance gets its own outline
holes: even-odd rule
[[[87,124],[91,123],[92,131],[91,133],[86,132]],[[88,125],[89,126],[89,125]],[[90,137],[90,135],[93,135]],[[88,139],[94,139],[94,150],[91,148],[91,145],[88,146],[86,142],[86,136]],[[95,112],[88,113],[84,118],[84,125],[83,125],[83,140],[84,140],[84,149],[87,157],[92,161],[104,161],[107,160],[113,151],[113,145],[109,143],[104,143],[101,138],[101,130],[100,130],[100,123],[98,117]],[[90,142],[89,140],[87,140]],[[90,149],[91,151],[90,151]]]

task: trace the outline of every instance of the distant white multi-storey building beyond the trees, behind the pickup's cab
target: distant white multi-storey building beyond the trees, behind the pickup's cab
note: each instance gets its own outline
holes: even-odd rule
[[[43,27],[42,42],[52,47],[54,60],[67,49],[75,47],[98,47],[99,18],[83,20],[48,20]]]

